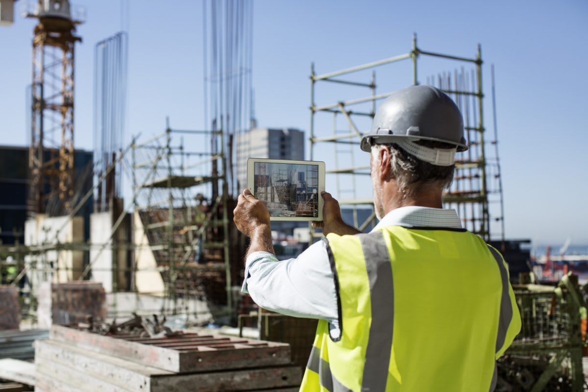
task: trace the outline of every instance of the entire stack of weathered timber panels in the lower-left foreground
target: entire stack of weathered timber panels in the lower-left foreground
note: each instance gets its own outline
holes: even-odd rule
[[[208,334],[106,336],[54,325],[35,349],[38,392],[294,392],[302,374],[288,344]]]

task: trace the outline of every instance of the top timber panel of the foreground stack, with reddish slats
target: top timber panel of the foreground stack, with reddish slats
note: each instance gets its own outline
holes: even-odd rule
[[[290,346],[284,343],[263,342],[267,343],[267,346],[245,348],[240,345],[239,347],[243,348],[226,350],[216,350],[206,346],[180,350],[178,347],[168,349],[145,344],[145,341],[136,343],[56,325],[51,327],[50,336],[51,339],[64,341],[83,349],[118,356],[174,373],[248,368],[251,364],[263,367],[290,363]],[[260,343],[258,340],[250,342]]]

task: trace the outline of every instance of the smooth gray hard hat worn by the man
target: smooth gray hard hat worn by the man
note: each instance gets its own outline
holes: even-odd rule
[[[449,96],[432,86],[410,86],[390,94],[376,110],[361,149],[373,144],[435,140],[467,150],[463,119]]]

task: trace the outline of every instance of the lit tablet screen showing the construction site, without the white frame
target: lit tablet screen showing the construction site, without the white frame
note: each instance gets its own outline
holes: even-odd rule
[[[253,174],[253,194],[270,216],[319,216],[318,165],[255,162]]]

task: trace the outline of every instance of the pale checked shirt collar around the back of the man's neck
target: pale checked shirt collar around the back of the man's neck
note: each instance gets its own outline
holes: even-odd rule
[[[399,207],[386,214],[372,231],[385,226],[450,227],[462,229],[462,222],[454,209],[422,206]]]

